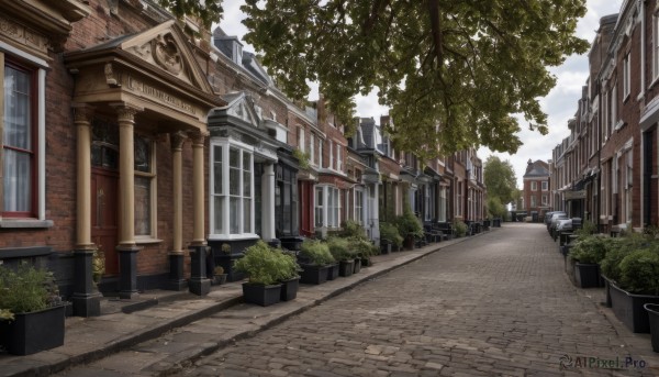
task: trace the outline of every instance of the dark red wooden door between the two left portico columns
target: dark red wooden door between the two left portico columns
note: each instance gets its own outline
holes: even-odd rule
[[[119,176],[114,170],[91,169],[91,240],[105,255],[105,275],[119,274]]]

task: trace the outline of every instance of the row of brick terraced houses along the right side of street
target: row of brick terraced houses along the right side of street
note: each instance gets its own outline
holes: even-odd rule
[[[623,1],[604,16],[589,55],[570,136],[554,148],[557,209],[602,232],[659,223],[659,4]]]

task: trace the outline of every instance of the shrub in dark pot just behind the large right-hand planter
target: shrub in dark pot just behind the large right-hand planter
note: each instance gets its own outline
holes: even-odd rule
[[[572,282],[580,288],[602,287],[600,262],[606,253],[606,239],[601,235],[583,235],[570,247],[573,260]]]

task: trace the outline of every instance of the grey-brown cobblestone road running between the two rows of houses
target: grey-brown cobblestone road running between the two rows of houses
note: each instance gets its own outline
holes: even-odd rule
[[[238,341],[182,373],[657,374],[659,358],[650,351],[649,335],[641,354],[635,354],[638,347],[629,347],[629,334],[613,323],[602,300],[602,289],[570,284],[544,225],[506,223]],[[572,367],[561,369],[561,359],[571,359]],[[610,361],[617,368],[596,368]],[[628,361],[643,362],[645,368],[627,366]]]

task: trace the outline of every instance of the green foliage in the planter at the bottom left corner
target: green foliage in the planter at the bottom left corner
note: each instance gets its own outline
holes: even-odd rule
[[[22,263],[14,270],[0,266],[0,309],[8,313],[27,313],[46,309],[57,295],[53,273]]]

